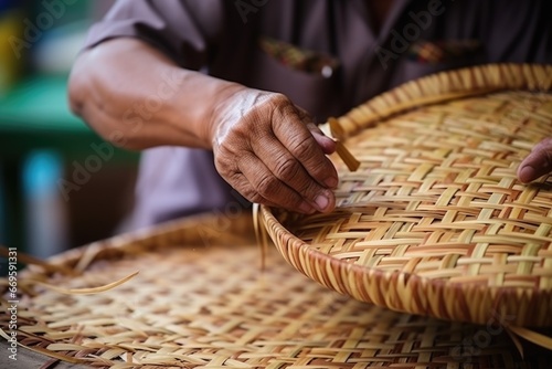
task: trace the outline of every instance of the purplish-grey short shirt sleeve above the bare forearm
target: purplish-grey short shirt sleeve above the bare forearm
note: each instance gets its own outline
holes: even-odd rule
[[[137,38],[182,67],[200,70],[224,27],[223,0],[118,0],[89,29],[84,49],[116,38]]]

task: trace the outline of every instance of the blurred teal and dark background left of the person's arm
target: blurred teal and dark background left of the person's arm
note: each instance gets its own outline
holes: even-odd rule
[[[0,244],[46,257],[117,233],[138,154],[68,109],[66,81],[110,0],[0,0]],[[2,271],[0,270],[0,273]]]

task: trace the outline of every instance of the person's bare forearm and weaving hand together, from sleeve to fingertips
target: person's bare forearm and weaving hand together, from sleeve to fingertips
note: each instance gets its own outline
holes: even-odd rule
[[[286,96],[183,70],[137,40],[83,53],[70,78],[73,110],[125,148],[213,150],[214,166],[252,202],[331,211],[336,143]]]

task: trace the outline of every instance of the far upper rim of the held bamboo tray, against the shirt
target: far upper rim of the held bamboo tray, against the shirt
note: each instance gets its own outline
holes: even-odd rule
[[[486,64],[432,74],[378,95],[338,118],[340,139],[408,109],[503,89],[552,89],[552,65]]]

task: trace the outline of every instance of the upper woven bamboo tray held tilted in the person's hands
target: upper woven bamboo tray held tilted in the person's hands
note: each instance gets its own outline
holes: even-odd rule
[[[552,137],[552,66],[485,65],[410,82],[338,119],[337,209],[261,208],[297,270],[410,314],[552,326],[552,181],[516,170]]]

